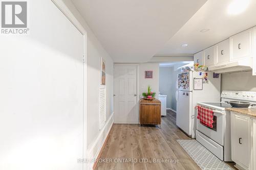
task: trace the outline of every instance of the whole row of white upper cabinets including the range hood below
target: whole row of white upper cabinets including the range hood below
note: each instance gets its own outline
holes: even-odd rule
[[[194,55],[194,62],[217,73],[250,71],[256,75],[256,27]],[[201,57],[203,55],[203,57]]]

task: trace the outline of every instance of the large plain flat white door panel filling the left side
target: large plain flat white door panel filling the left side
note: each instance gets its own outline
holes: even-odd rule
[[[0,169],[82,169],[83,36],[50,0],[0,36]]]

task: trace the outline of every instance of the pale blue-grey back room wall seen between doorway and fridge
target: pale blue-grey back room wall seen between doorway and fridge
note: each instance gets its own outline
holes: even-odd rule
[[[159,68],[159,91],[167,95],[167,108],[172,108],[172,71],[173,67]]]

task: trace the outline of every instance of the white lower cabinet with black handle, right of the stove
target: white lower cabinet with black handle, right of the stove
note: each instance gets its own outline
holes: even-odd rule
[[[256,169],[256,137],[252,135],[255,132],[256,119],[231,112],[231,159],[238,169]]]

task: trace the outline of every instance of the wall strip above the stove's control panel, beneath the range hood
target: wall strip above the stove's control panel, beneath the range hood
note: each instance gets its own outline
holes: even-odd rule
[[[256,91],[256,76],[252,76],[252,72],[222,74],[221,89]]]

